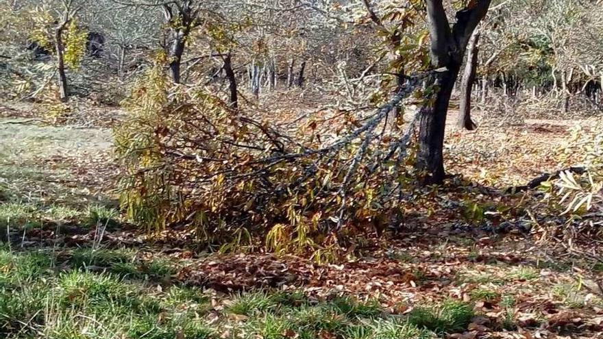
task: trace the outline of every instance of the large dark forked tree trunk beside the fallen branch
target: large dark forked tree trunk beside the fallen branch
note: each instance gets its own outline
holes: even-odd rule
[[[452,88],[469,38],[486,15],[490,3],[491,0],[471,1],[467,8],[456,12],[457,21],[450,29],[442,0],[426,0],[431,64],[442,71],[435,76],[433,104],[423,107],[419,114],[417,169],[424,173],[423,184],[440,184],[445,177],[444,132]]]

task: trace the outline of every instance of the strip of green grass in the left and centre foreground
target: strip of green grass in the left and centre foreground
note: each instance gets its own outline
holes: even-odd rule
[[[174,264],[138,257],[129,249],[0,247],[0,338],[434,338],[462,332],[473,316],[456,301],[395,315],[341,295],[159,288],[149,275],[171,274]],[[126,265],[136,274],[121,274]]]

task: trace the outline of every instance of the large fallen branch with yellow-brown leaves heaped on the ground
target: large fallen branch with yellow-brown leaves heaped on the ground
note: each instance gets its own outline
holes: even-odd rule
[[[159,65],[125,101],[130,118],[115,132],[127,168],[121,201],[140,225],[191,227],[207,245],[307,251],[402,213],[409,136],[377,130],[383,112],[285,134],[200,88],[171,87]]]

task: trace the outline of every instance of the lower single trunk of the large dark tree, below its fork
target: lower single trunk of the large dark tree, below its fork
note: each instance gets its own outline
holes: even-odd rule
[[[432,106],[421,108],[419,113],[417,168],[425,174],[422,179],[425,185],[439,184],[445,177],[443,145],[446,115],[459,71],[460,64],[452,62],[448,71],[437,75],[434,86],[439,90],[435,94],[435,101]]]

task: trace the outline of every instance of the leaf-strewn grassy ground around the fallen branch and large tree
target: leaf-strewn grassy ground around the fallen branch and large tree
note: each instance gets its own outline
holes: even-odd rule
[[[0,110],[2,338],[603,338],[603,264],[466,213],[522,199],[484,187],[574,164],[588,119],[450,128],[448,171],[473,190],[432,192],[406,231],[319,265],[141,234],[116,209],[109,126]]]

